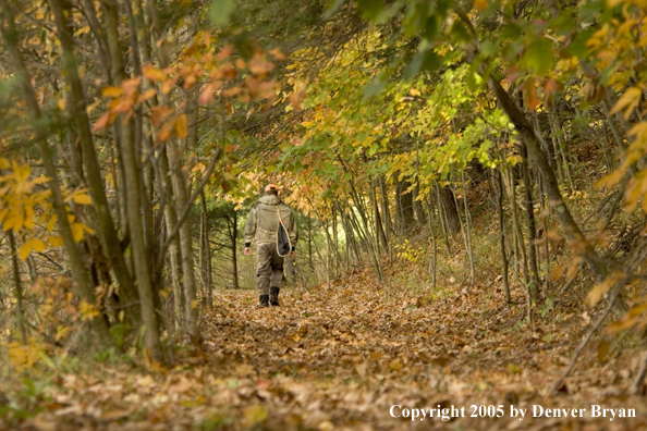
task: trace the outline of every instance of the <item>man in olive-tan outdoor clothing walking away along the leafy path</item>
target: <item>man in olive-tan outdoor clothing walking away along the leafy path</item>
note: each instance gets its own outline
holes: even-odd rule
[[[277,250],[279,223],[282,223],[292,249],[290,257],[294,259],[298,230],[292,210],[279,197],[274,184],[265,187],[265,196],[258,199],[249,212],[245,226],[245,256],[252,254],[252,241],[256,243],[258,257],[258,294],[259,306],[279,305],[279,291],[283,279],[283,257]]]

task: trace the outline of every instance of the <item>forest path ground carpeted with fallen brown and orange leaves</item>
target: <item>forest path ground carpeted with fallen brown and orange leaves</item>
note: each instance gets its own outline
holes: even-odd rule
[[[565,387],[547,396],[593,312],[581,300],[550,310],[533,331],[520,323],[521,293],[510,307],[496,286],[453,292],[381,288],[368,268],[309,291],[284,288],[281,307],[269,309],[256,307],[254,291],[219,291],[217,305],[203,310],[202,349],[185,350],[174,367],[54,373],[30,401],[36,415],[0,419],[0,428],[647,429],[645,396],[626,390],[639,355],[615,354],[613,343],[591,343]],[[394,405],[395,415],[453,405],[465,417],[412,421],[391,417]],[[533,417],[534,405],[586,410]],[[610,418],[609,410],[595,418],[591,405],[633,408],[636,417]],[[478,417],[487,406],[502,406],[502,417]],[[527,409],[523,420],[511,417],[512,407]]]

